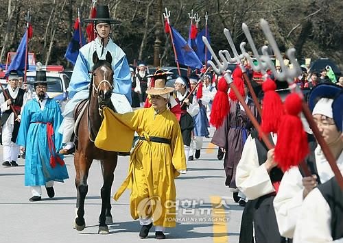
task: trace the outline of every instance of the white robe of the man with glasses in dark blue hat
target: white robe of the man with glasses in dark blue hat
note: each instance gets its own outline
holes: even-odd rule
[[[333,171],[327,159],[324,157],[320,146],[315,150],[316,166],[321,183],[329,181],[333,177]],[[338,168],[343,170],[343,153],[338,157]],[[293,238],[296,222],[301,213],[303,204],[303,176],[298,167],[290,168],[279,187],[279,192],[274,199],[274,209],[280,234],[283,237]]]

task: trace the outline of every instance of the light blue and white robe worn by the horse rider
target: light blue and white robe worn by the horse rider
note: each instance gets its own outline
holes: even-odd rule
[[[104,48],[104,53],[102,56],[102,45],[99,39],[96,38],[92,42],[84,45],[78,55],[76,60],[73,74],[71,75],[71,81],[68,87],[69,104],[67,103],[64,108],[63,116],[66,116],[70,112],[73,112],[75,105],[82,99],[88,98],[88,85],[91,83],[90,71],[92,70],[93,63],[93,53],[97,51],[99,60],[106,59],[107,51],[112,55],[112,69],[113,69],[113,80],[114,89],[113,92],[117,94],[125,95],[129,103],[131,103],[131,74],[130,66],[128,65],[128,60],[126,59],[126,54],[121,50],[120,47],[115,44],[111,39],[108,40],[108,44]],[[83,91],[82,91],[83,90]],[[80,94],[78,94],[82,91]],[[78,94],[75,96],[75,94]],[[75,97],[75,98],[74,98]]]

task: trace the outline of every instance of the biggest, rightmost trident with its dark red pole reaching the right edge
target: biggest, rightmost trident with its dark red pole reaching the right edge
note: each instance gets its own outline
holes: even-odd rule
[[[294,66],[294,68],[290,69],[287,66],[285,66],[285,64],[283,63],[281,52],[279,50],[279,47],[276,44],[272,31],[270,31],[268,22],[265,21],[264,19],[261,19],[260,25],[265,35],[265,38],[267,38],[268,42],[270,43],[270,47],[272,47],[275,53],[276,58],[280,61],[281,73],[276,72],[276,69],[274,68],[274,64],[272,64],[272,61],[270,60],[269,55],[266,55],[267,53],[265,51],[263,51],[261,60],[263,60],[268,65],[268,68],[272,70],[276,79],[286,80],[287,83],[289,84],[289,88],[291,88],[293,92],[296,92],[297,94],[299,94],[301,98],[304,98],[303,93],[301,92],[300,88],[294,83],[294,78],[298,77],[298,75],[300,75],[301,73],[300,65],[298,64],[295,58],[296,50],[294,48],[287,50],[287,56],[289,57],[289,60],[292,62]],[[329,146],[327,146],[327,143],[324,141],[324,138],[320,135],[320,131],[318,130],[318,127],[316,123],[314,122],[314,118],[312,117],[312,114],[309,111],[309,107],[307,106],[306,101],[304,99],[302,102],[302,110],[303,110],[303,114],[307,122],[309,123],[309,127],[314,132],[314,136],[316,136],[316,140],[320,144],[320,147],[322,148],[322,151],[327,161],[329,162],[329,165],[331,166],[331,170],[333,170],[333,173],[335,174],[335,177],[338,181],[338,184],[340,185],[340,188],[343,190],[343,177],[335,162],[335,157],[333,157],[329,149]]]

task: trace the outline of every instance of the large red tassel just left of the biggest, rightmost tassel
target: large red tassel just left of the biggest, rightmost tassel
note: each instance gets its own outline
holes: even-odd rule
[[[267,79],[262,84],[264,92],[261,130],[264,133],[277,133],[281,116],[285,114],[279,94],[275,92],[276,84]]]

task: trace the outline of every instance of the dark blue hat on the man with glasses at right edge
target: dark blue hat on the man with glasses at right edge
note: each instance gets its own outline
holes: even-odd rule
[[[312,112],[320,98],[334,99],[342,90],[342,87],[335,84],[318,84],[309,94],[309,109]]]

